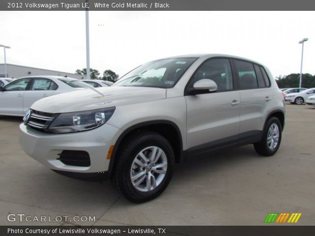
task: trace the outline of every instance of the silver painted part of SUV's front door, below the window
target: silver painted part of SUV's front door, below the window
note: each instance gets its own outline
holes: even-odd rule
[[[186,96],[187,148],[217,140],[221,140],[222,145],[225,141],[237,142],[240,106],[232,105],[233,101],[240,101],[239,91]]]

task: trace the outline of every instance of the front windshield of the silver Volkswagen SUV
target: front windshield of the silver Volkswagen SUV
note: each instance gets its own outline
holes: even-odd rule
[[[155,60],[130,71],[112,86],[172,88],[196,59]]]

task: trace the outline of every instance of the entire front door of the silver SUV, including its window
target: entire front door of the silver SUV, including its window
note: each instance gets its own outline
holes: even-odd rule
[[[212,93],[186,96],[187,148],[203,152],[214,146],[236,144],[240,128],[240,93],[233,90],[229,59],[203,62],[193,74],[188,89],[201,79],[214,81],[218,89]]]

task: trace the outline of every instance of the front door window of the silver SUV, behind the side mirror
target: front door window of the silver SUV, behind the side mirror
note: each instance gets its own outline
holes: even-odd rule
[[[204,62],[194,73],[192,85],[201,80],[210,79],[216,82],[217,91],[233,89],[232,71],[229,59],[210,59]]]

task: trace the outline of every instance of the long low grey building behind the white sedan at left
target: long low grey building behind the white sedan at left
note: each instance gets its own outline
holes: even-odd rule
[[[55,76],[66,76],[75,79],[83,80],[86,79],[86,75],[78,75],[73,73],[67,73],[56,70],[46,70],[35,67],[6,64],[7,76],[5,76],[4,64],[0,64],[0,77],[8,78],[20,78],[25,76],[38,76],[38,75],[55,75]]]

